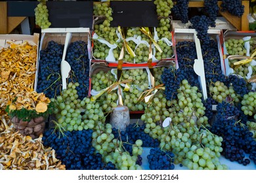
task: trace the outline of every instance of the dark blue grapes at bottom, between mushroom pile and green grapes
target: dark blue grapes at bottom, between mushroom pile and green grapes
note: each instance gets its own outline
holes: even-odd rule
[[[64,135],[53,129],[45,131],[44,146],[51,146],[68,170],[116,169],[112,163],[103,163],[102,156],[92,146],[93,130],[65,131]]]

